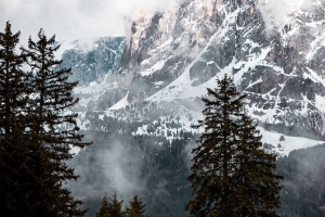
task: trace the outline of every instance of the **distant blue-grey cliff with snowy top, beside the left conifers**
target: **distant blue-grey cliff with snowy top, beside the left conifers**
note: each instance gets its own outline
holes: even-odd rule
[[[62,66],[72,68],[72,80],[78,80],[79,86],[88,86],[117,71],[125,44],[125,37],[64,41],[60,51]]]

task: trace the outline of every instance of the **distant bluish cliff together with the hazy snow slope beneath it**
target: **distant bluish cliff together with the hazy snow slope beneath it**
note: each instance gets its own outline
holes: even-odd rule
[[[61,67],[72,68],[70,79],[79,81],[75,95],[80,101],[75,111],[106,110],[126,94],[127,90],[118,89],[114,78],[126,46],[125,37],[79,39],[60,44],[55,58],[63,60]]]

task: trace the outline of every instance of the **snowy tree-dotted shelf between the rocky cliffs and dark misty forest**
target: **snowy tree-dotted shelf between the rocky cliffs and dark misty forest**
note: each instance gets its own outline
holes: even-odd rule
[[[100,130],[116,133],[131,133],[133,136],[147,136],[152,138],[165,137],[170,142],[186,138],[184,133],[199,133],[203,128],[193,129],[199,119],[203,119],[203,105],[193,101],[194,106],[185,101],[147,102],[133,106],[127,101],[127,95],[107,111],[93,111],[79,113],[78,126],[82,130]],[[196,106],[195,106],[196,105]],[[119,124],[114,124],[119,123]],[[108,126],[114,126],[107,127]],[[120,127],[118,127],[120,125]],[[126,128],[127,127],[127,128]],[[262,135],[262,143],[265,150],[287,155],[290,151],[306,149],[316,144],[323,144],[321,139],[310,139],[297,136],[288,136],[285,132],[274,131],[264,127],[258,127]],[[127,131],[126,131],[127,130]],[[282,141],[281,137],[285,137]]]

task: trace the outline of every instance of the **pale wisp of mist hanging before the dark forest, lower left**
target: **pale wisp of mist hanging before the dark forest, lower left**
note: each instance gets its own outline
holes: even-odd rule
[[[87,137],[93,136],[88,133]],[[100,139],[95,143],[69,163],[80,179],[69,182],[67,188],[83,201],[101,200],[105,193],[117,192],[128,202],[132,195],[140,194],[145,186],[140,177],[142,153],[114,139],[109,142]]]

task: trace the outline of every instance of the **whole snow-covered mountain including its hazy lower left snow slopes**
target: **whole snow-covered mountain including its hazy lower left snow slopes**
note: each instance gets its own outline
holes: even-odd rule
[[[272,1],[258,0],[184,0],[164,12],[134,13],[126,20],[126,42],[118,46],[125,47],[118,68],[113,67],[117,73],[105,74],[91,64],[87,66],[91,69],[78,68],[80,74],[101,75],[95,76],[100,81],[87,79],[89,86],[76,89],[81,128],[92,126],[86,111],[99,113],[99,122],[109,116],[140,123],[147,119],[144,111],[152,105],[172,104],[173,111],[161,118],[180,116],[182,130],[191,131],[190,125],[202,118],[198,99],[207,87],[216,86],[217,77],[227,74],[247,94],[253,118],[324,135],[325,1],[296,8],[286,2],[282,7],[290,10],[283,14],[276,14],[281,11],[274,10]],[[78,56],[65,53],[66,63]],[[156,122],[153,116],[133,133],[160,133],[161,127],[147,130]]]

